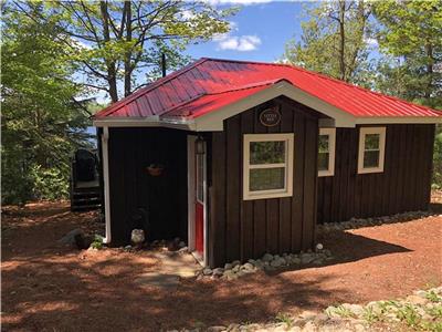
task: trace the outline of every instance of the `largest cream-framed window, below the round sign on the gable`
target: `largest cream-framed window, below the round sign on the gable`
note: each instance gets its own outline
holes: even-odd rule
[[[244,199],[292,196],[293,134],[244,135]]]

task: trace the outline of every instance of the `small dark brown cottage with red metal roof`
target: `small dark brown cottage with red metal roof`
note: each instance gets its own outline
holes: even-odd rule
[[[201,59],[94,116],[105,241],[202,264],[313,248],[317,222],[427,209],[442,113],[285,64]]]

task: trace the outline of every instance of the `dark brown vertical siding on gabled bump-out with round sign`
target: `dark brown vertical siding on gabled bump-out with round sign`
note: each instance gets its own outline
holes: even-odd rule
[[[316,225],[318,114],[284,97],[281,122],[265,127],[259,113],[265,105],[224,121],[209,144],[209,262],[220,267],[265,252],[312,248]],[[244,134],[294,133],[293,196],[243,200]]]

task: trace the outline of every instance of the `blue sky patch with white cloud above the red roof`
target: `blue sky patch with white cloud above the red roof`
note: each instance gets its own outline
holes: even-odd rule
[[[231,31],[210,42],[190,45],[187,54],[194,59],[273,62],[282,58],[287,41],[301,38],[302,8],[306,2],[233,0],[229,4],[241,8],[229,19]],[[225,7],[220,1],[215,6]]]

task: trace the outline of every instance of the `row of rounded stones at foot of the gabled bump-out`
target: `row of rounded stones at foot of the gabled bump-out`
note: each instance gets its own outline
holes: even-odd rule
[[[317,246],[322,248],[322,245]],[[197,279],[211,278],[211,279],[225,279],[234,280],[245,274],[254,273],[257,271],[273,271],[284,267],[301,267],[306,264],[322,266],[326,261],[333,260],[330,250],[318,249],[316,252],[308,250],[307,252],[301,253],[283,253],[271,255],[265,253],[260,259],[249,259],[245,263],[241,263],[235,260],[230,263],[225,263],[224,268],[204,268],[197,272]]]

